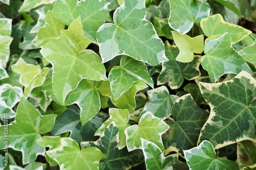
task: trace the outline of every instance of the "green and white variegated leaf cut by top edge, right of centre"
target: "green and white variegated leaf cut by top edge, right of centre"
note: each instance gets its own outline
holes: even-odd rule
[[[181,15],[182,14],[182,15]],[[210,16],[210,6],[206,2],[191,0],[170,0],[169,26],[180,34],[186,34],[195,23]]]

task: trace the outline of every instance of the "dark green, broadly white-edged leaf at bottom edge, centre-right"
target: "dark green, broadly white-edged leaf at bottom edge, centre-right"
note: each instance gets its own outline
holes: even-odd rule
[[[161,149],[153,142],[141,138],[142,151],[145,157],[146,169],[170,169],[174,158],[178,158],[178,154],[163,156]]]

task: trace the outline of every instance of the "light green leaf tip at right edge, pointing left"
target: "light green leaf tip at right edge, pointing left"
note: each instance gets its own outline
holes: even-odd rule
[[[251,62],[256,68],[256,41],[238,52],[245,61]]]

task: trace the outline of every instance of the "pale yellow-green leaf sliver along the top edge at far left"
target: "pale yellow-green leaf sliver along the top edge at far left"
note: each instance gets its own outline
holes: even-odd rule
[[[36,1],[36,0],[24,0],[24,3],[22,6],[19,8],[18,12],[24,12],[31,10],[33,8],[36,8],[42,4],[52,4],[56,0],[42,0],[42,1]]]

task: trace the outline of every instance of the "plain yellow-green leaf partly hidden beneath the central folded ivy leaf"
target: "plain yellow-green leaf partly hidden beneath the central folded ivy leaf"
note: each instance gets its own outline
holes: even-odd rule
[[[112,95],[110,97],[111,102],[120,109],[128,109],[132,112],[136,107],[135,94],[137,93],[137,91],[142,90],[146,87],[147,85],[141,80],[135,82],[132,87],[128,91],[124,92],[117,100],[115,100],[114,96]]]

